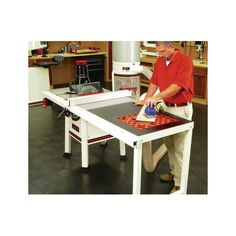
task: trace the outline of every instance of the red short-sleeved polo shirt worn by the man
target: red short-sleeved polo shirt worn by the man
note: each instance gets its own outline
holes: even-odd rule
[[[165,102],[177,104],[190,102],[194,91],[193,62],[191,57],[176,50],[168,66],[164,58],[158,57],[150,82],[157,85],[160,92],[171,84],[182,87],[174,96],[165,98]]]

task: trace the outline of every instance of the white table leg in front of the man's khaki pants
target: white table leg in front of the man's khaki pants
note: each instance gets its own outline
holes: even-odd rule
[[[181,189],[180,189],[181,194],[187,193],[192,132],[193,132],[192,129],[190,129],[189,131],[186,131],[186,136],[184,140],[184,154],[183,154],[183,162],[182,162]]]

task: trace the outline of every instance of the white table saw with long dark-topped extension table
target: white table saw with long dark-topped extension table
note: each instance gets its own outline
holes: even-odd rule
[[[54,89],[43,92],[47,99],[80,117],[78,121],[74,121],[71,115],[65,116],[65,153],[69,154],[71,152],[71,137],[81,142],[82,167],[87,168],[89,165],[88,145],[101,140],[117,138],[121,144],[121,155],[125,155],[125,144],[134,149],[133,194],[140,194],[142,143],[186,132],[181,188],[175,192],[175,194],[186,194],[194,125],[192,121],[165,113],[164,115],[174,120],[174,122],[137,129],[117,119],[120,116],[139,113],[141,107],[133,104],[131,91],[106,92],[82,97],[65,94],[65,91],[65,89]]]

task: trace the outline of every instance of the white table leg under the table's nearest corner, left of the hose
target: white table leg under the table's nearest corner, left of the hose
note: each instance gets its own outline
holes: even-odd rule
[[[141,172],[142,172],[142,143],[134,147],[133,160],[133,194],[141,193]]]

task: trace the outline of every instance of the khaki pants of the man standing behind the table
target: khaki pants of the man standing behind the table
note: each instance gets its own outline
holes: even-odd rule
[[[173,115],[182,117],[187,120],[192,119],[192,104],[183,107],[167,107],[165,104],[163,104],[162,108],[165,112],[169,112]],[[182,132],[164,138],[164,143],[168,150],[170,170],[171,173],[174,175],[174,181],[176,186],[180,186],[181,183],[185,135],[186,132]]]

